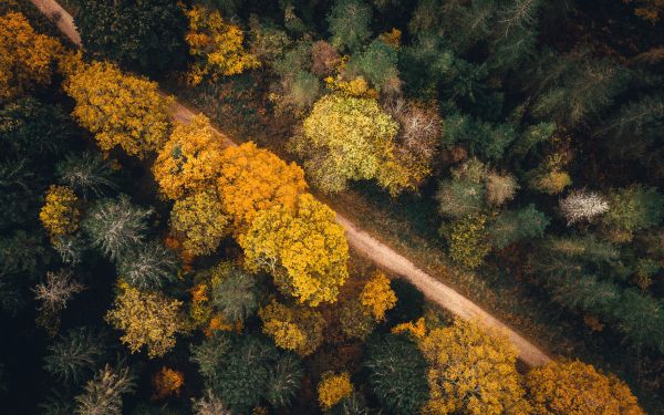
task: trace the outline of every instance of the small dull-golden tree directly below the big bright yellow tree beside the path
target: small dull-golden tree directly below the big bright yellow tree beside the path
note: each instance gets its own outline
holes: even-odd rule
[[[307,356],[323,341],[325,321],[321,313],[310,308],[287,307],[272,300],[258,315],[263,323],[263,333],[281,349]]]

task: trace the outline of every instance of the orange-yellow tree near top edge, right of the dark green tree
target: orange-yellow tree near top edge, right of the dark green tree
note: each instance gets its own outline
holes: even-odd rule
[[[189,71],[189,82],[198,84],[205,76],[235,75],[258,68],[258,59],[243,46],[242,30],[227,23],[217,10],[195,6],[187,11],[189,32],[186,41],[196,62]]]

